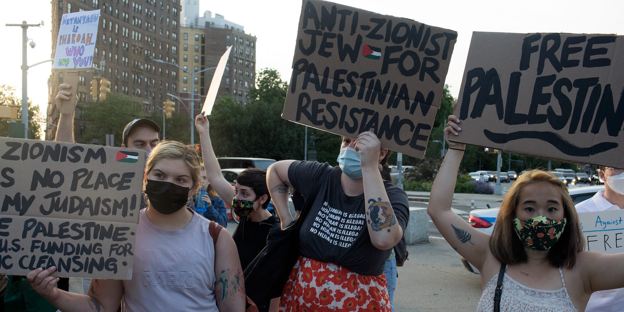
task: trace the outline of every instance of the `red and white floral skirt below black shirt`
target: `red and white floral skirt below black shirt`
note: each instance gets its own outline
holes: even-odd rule
[[[290,272],[280,311],[392,311],[386,275],[360,275],[300,256]]]

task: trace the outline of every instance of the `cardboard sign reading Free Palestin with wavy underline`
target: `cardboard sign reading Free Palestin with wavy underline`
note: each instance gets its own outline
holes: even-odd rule
[[[624,168],[624,37],[474,32],[453,140]]]

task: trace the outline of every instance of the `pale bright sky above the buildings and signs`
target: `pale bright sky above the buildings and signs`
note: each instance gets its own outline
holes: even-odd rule
[[[100,0],[102,1],[102,0]],[[132,1],[132,0],[130,0]],[[290,79],[291,62],[295,50],[296,27],[301,2],[296,0],[240,0],[200,1],[200,15],[210,10],[225,19],[245,26],[258,38],[256,70],[265,67],[277,69],[284,80]],[[51,58],[51,1],[2,1],[0,22],[4,48],[0,51],[0,84],[17,88],[21,97],[21,36],[20,27],[6,23],[29,24],[44,21],[42,27],[31,27],[28,37],[37,46],[28,49],[28,64]],[[144,2],[144,1],[140,1]],[[454,97],[458,96],[462,74],[473,31],[493,32],[570,32],[596,34],[624,34],[624,1],[409,1],[409,0],[339,0],[341,4],[369,11],[406,17],[432,26],[458,32],[446,84]],[[28,95],[41,112],[46,113],[47,78],[51,63],[32,67],[28,75]]]

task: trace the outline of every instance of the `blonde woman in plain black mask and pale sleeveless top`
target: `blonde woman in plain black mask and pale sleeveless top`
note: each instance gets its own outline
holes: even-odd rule
[[[31,271],[27,280],[64,312],[112,312],[120,302],[123,311],[244,311],[243,272],[232,237],[223,230],[213,241],[210,222],[185,206],[200,183],[197,151],[160,142],[145,165],[149,207],[140,212],[132,280],[92,279],[87,295],[58,290],[50,276],[54,266]]]

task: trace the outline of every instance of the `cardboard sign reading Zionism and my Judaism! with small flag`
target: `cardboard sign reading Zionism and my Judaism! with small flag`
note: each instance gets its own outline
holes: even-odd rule
[[[0,273],[132,277],[145,152],[0,137]]]

